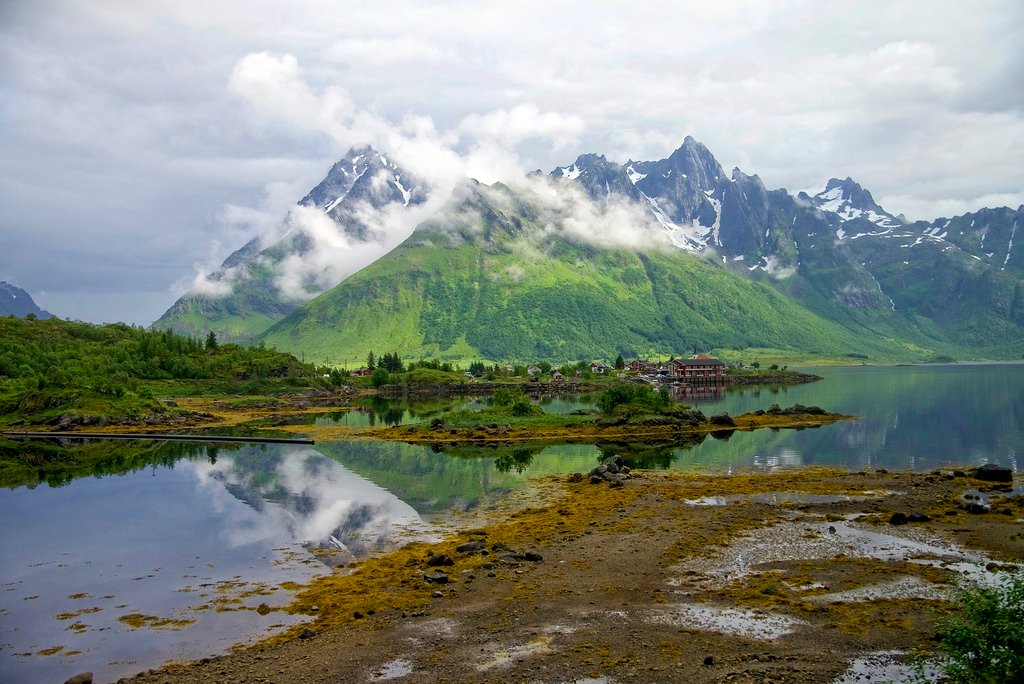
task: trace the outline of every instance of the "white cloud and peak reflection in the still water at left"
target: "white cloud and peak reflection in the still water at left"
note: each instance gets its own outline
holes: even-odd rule
[[[419,514],[386,489],[309,447],[251,446],[209,461],[184,461],[224,516],[232,547],[280,538],[314,545],[339,540],[354,556],[423,529]],[[246,504],[239,506],[239,502]]]

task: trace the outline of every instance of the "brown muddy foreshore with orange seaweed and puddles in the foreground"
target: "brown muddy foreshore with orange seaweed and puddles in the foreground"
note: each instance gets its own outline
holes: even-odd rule
[[[972,488],[991,512],[963,508]],[[442,542],[315,581],[287,608],[305,626],[132,681],[830,682],[864,657],[900,680],[892,653],[934,647],[953,583],[1024,559],[1010,488],[824,469],[542,480]]]

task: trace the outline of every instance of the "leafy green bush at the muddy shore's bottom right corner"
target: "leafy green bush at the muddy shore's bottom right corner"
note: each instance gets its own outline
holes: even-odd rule
[[[962,588],[962,615],[942,623],[937,636],[950,682],[1024,681],[1024,574],[995,586]]]

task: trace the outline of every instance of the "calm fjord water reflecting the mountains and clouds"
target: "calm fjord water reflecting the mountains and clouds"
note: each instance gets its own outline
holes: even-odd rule
[[[222,652],[295,619],[278,606],[302,582],[409,539],[454,512],[526,496],[535,475],[586,471],[621,454],[647,468],[834,465],[930,470],[999,463],[1024,443],[1024,365],[818,370],[824,380],[696,397],[706,414],[817,404],[858,420],[758,430],[683,446],[555,444],[436,453],[381,441],[197,444],[118,459],[93,476],[0,489],[0,681],[117,679]],[[545,397],[549,412],[593,397]],[[369,402],[319,416],[350,425],[427,419],[451,405]],[[308,423],[309,421],[303,421]],[[74,446],[68,450],[73,460]],[[135,448],[146,453],[144,444]],[[148,465],[146,465],[148,464]]]

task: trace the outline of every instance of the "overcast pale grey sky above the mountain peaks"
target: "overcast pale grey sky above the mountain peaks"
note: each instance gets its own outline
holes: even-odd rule
[[[1019,0],[0,0],[0,280],[148,325],[365,143],[494,182],[692,135],[911,220],[1016,208],[1021,45]]]

